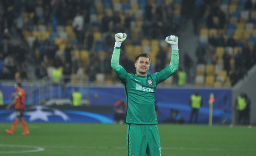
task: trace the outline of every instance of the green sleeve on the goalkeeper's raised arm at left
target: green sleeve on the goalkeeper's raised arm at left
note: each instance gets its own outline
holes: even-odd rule
[[[116,76],[120,79],[120,81],[124,83],[125,79],[128,77],[128,73],[121,65],[119,65],[119,58],[120,47],[115,47],[111,58],[111,68],[115,72]]]

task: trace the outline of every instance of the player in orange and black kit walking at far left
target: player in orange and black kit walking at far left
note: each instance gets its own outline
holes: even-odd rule
[[[16,126],[18,125],[18,119],[21,120],[21,124],[24,128],[24,132],[21,133],[22,135],[28,135],[29,134],[29,130],[26,126],[26,122],[23,118],[23,110],[25,108],[24,102],[25,102],[25,94],[26,92],[24,91],[23,88],[21,88],[21,84],[20,83],[15,83],[14,85],[16,92],[12,94],[12,96],[15,96],[15,99],[13,100],[12,103],[10,103],[9,105],[6,106],[6,109],[10,109],[12,107],[12,105],[15,104],[15,110],[16,110],[16,117],[14,120],[14,123],[12,125],[12,128],[10,130],[6,130],[6,133],[9,134],[13,134]]]

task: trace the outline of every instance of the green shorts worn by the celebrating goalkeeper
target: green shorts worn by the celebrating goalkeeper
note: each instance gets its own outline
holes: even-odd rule
[[[134,125],[127,128],[128,156],[161,156],[157,125]]]

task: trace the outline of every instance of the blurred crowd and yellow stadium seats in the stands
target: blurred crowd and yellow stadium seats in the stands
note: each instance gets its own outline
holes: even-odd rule
[[[192,33],[197,44],[180,37],[180,69],[164,85],[230,87],[255,65],[255,23],[256,0],[1,0],[0,79],[113,84],[114,34],[128,34],[120,64],[135,73],[137,54],[160,71],[165,37]]]

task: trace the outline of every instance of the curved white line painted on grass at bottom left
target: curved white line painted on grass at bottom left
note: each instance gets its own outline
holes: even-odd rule
[[[40,152],[43,151],[43,147],[37,146],[28,146],[28,145],[4,145],[0,144],[0,147],[23,147],[23,148],[34,148],[32,150],[9,150],[9,151],[0,151],[0,154],[3,153],[31,153],[31,152]]]

